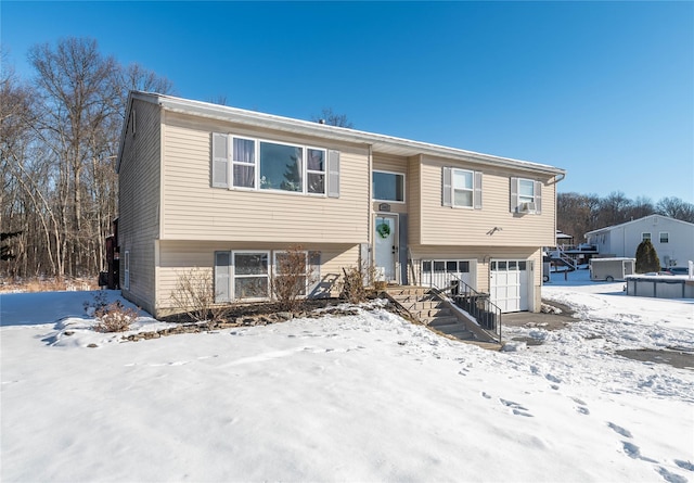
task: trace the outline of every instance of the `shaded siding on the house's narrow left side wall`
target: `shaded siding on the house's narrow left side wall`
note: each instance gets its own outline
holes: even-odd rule
[[[119,169],[120,287],[124,295],[147,312],[154,309],[155,240],[158,237],[160,112],[133,101]],[[132,122],[136,130],[132,132]],[[130,253],[130,289],[125,289],[125,252]]]

